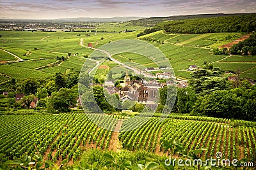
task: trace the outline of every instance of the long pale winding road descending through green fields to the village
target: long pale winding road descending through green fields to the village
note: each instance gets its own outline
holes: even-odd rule
[[[80,45],[83,46],[83,47],[85,47],[85,48],[90,48],[90,49],[92,49],[92,50],[97,50],[97,51],[99,51],[99,52],[105,53],[105,54],[108,56],[109,59],[113,60],[113,62],[116,62],[117,64],[119,64],[119,65],[121,65],[121,66],[124,66],[124,67],[127,68],[127,69],[131,69],[132,71],[134,71],[135,74],[141,74],[141,75],[143,75],[143,76],[145,76],[145,77],[148,77],[148,78],[156,78],[156,77],[155,77],[154,75],[152,75],[152,74],[144,73],[144,72],[141,71],[140,69],[136,69],[136,68],[134,68],[134,67],[127,66],[127,65],[125,65],[124,63],[122,63],[122,62],[120,62],[120,61],[114,59],[114,58],[112,57],[112,55],[111,55],[109,52],[105,51],[105,50],[101,50],[101,49],[99,49],[99,48],[93,48],[93,47],[89,47],[89,46],[83,45],[83,38],[80,39]],[[94,69],[94,68],[93,68],[93,69]],[[91,70],[91,71],[92,71],[92,70]]]

